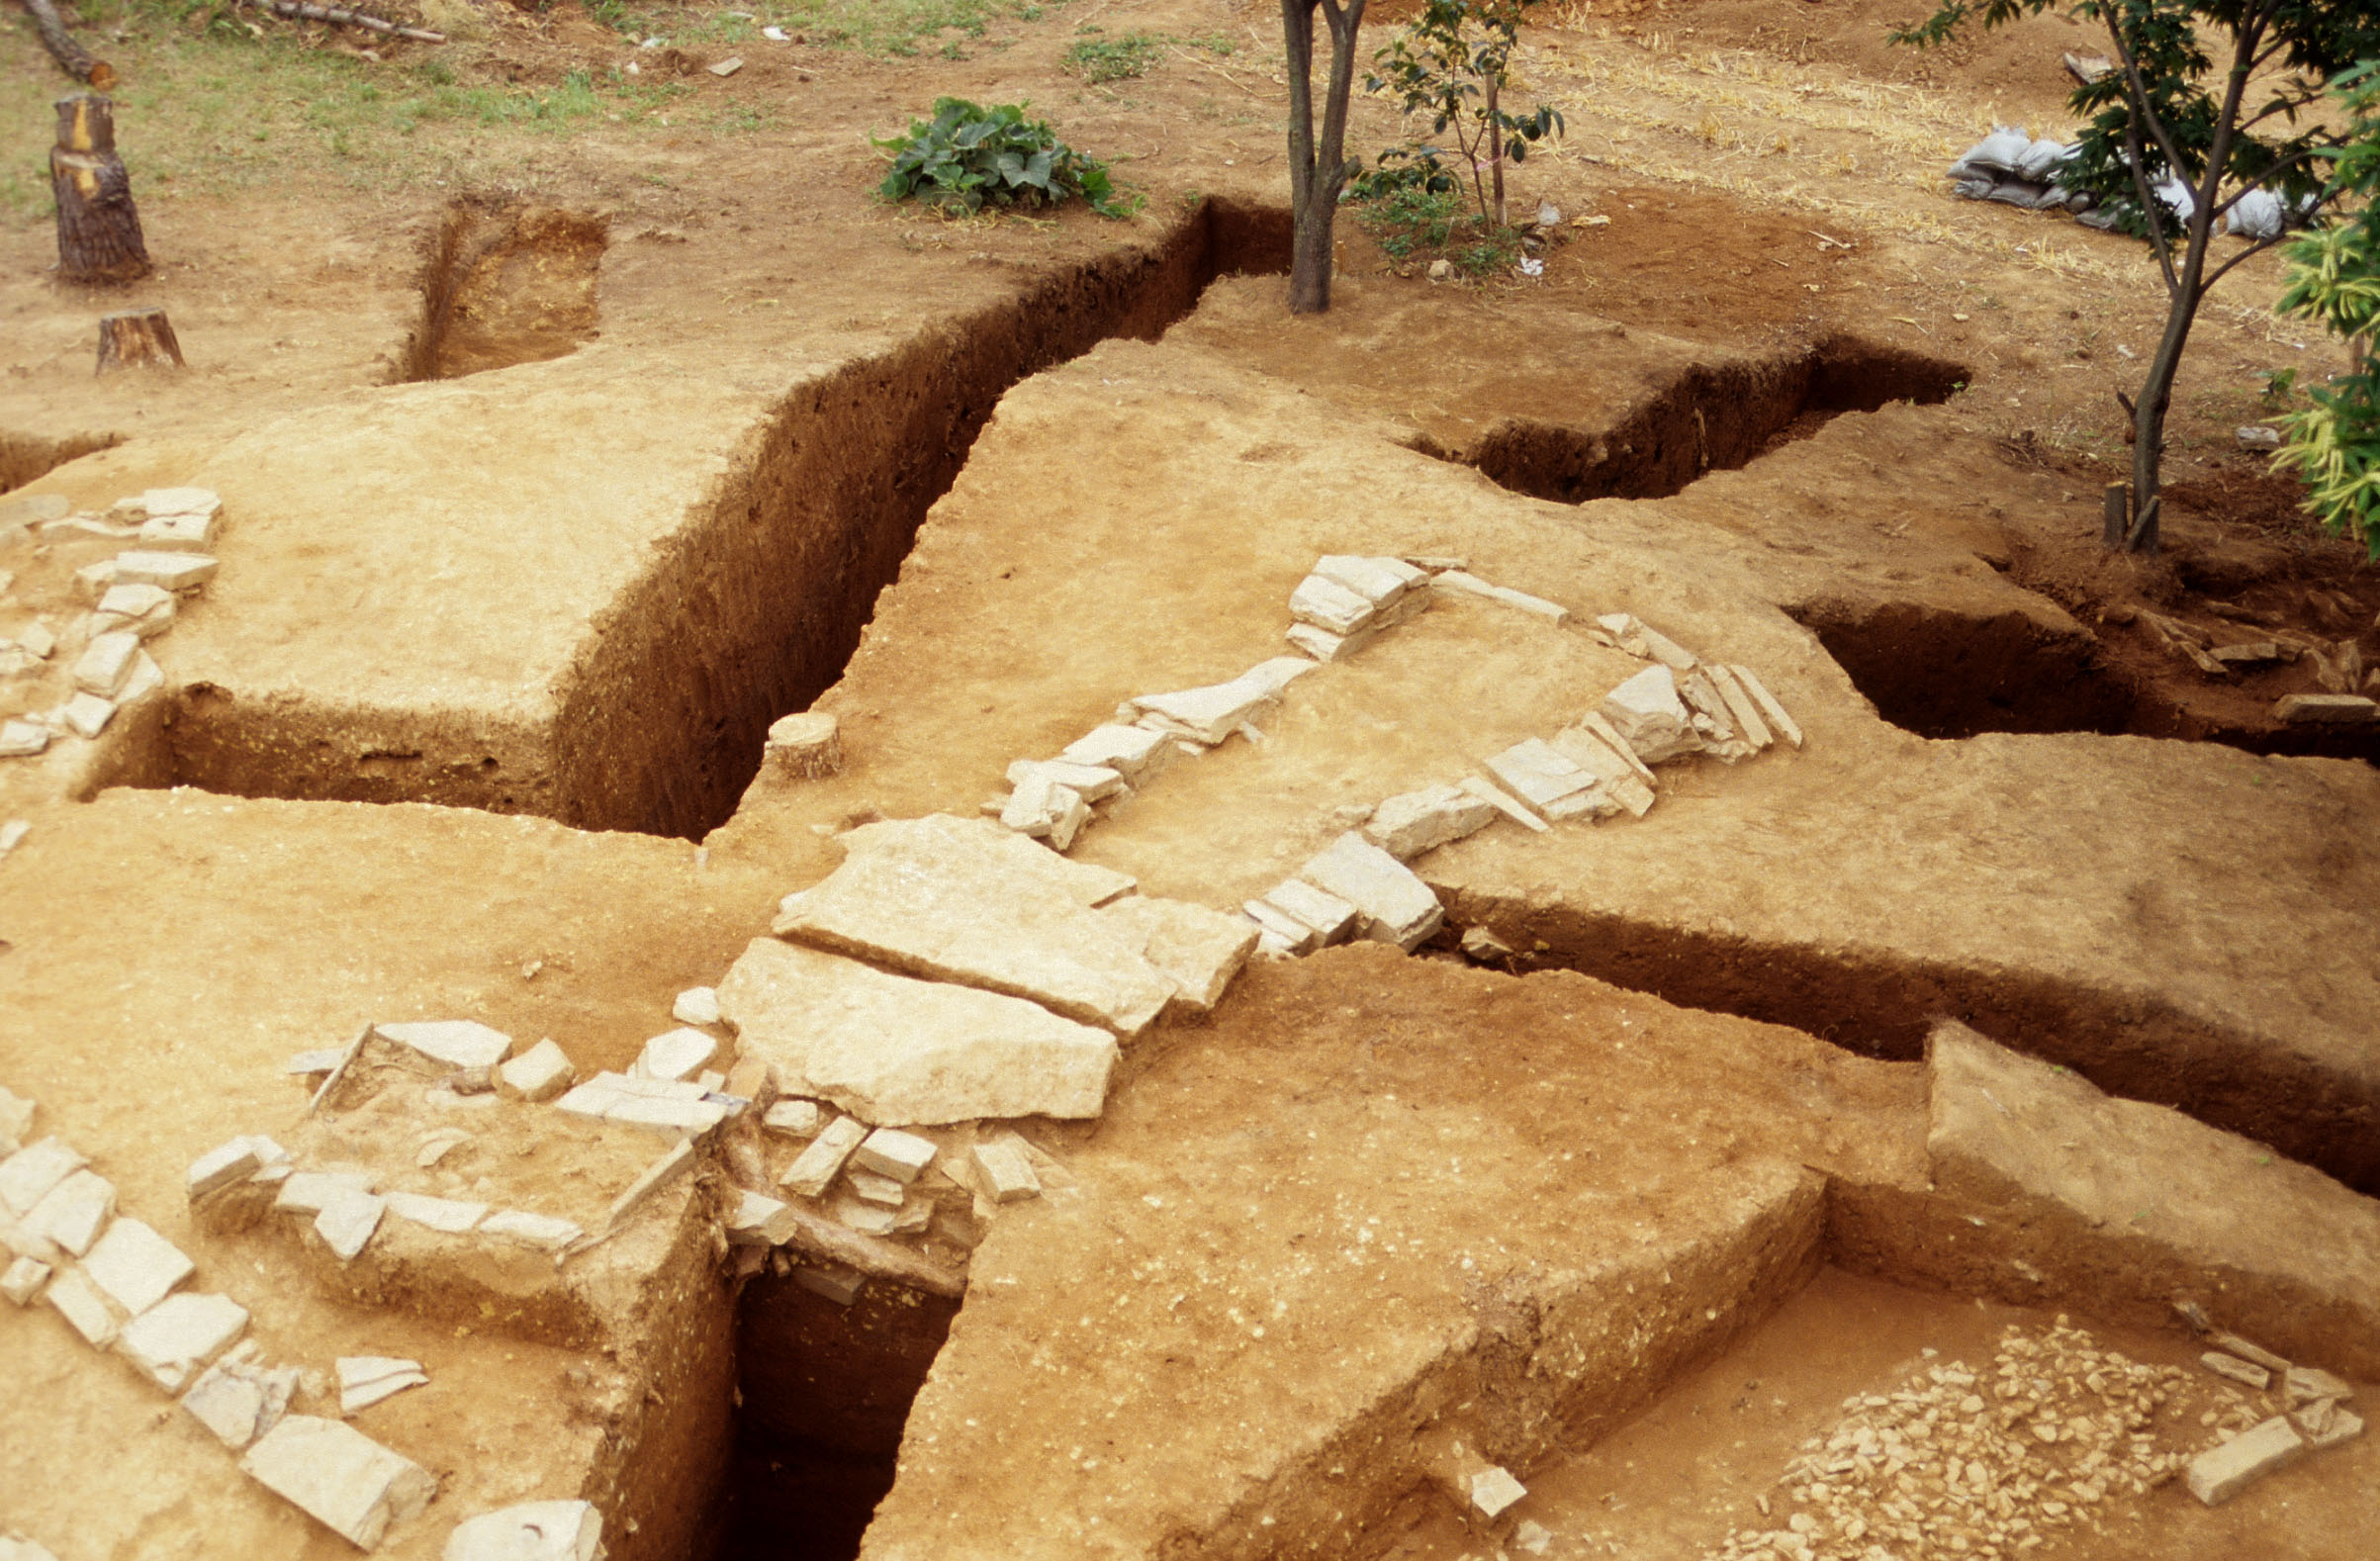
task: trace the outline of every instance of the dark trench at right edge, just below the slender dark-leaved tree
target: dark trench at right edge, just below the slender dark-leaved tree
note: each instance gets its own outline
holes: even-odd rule
[[[2111,664],[2080,626],[2059,631],[2013,612],[1978,616],[1918,602],[1825,600],[1790,612],[1878,716],[1921,738],[2130,733],[2380,764],[2375,726],[2206,716]]]

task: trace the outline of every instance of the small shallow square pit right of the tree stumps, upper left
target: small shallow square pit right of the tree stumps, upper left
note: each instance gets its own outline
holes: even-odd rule
[[[462,378],[564,357],[595,336],[602,217],[464,198],[421,267],[421,324],[397,378]]]

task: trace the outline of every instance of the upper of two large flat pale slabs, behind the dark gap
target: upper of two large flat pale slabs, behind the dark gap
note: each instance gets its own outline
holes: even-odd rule
[[[838,954],[1031,997],[1121,1035],[1145,1030],[1176,983],[1085,895],[1109,878],[985,819],[933,814],[843,838],[843,866],[788,895],[774,930]]]

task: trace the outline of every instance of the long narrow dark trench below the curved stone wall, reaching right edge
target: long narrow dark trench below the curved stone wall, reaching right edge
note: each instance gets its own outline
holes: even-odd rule
[[[2380,1095],[2268,1035],[2225,1030],[2144,995],[1883,949],[1754,942],[1564,904],[1442,890],[1447,919],[1664,1002],[1806,1030],[1864,1057],[1916,1059],[1937,1018],[2061,1064],[2109,1095],[2175,1107],[2380,1195]]]

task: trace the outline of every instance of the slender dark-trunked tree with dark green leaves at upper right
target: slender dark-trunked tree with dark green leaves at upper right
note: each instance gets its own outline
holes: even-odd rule
[[[1940,0],[1894,43],[1944,43],[1968,21],[1985,29],[2059,10],[2106,26],[2116,69],[2071,98],[2087,126],[2059,183],[2118,207],[2149,240],[2166,281],[2166,328],[2149,357],[2132,414],[2132,485],[2109,543],[2156,552],[2156,512],[2173,376],[2206,293],[2247,257],[2282,240],[2282,224],[2237,255],[2209,264],[2216,224],[2266,190],[2280,212],[2323,200],[2318,159],[2340,136],[2299,126],[2323,86],[2356,59],[2380,55],[2373,0]],[[2218,40],[2221,74],[2202,45]],[[2261,102],[2249,102],[2251,81]],[[2159,195],[2180,181],[2185,200]]]

